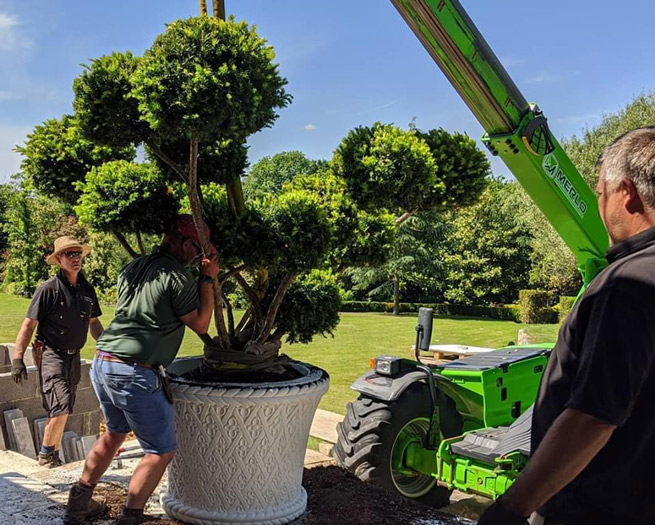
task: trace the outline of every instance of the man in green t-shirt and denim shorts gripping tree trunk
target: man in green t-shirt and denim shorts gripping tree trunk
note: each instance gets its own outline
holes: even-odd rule
[[[209,228],[204,225],[209,236]],[[116,525],[136,525],[175,453],[173,405],[158,373],[175,358],[184,328],[206,334],[213,311],[216,249],[205,255],[190,215],[178,216],[153,253],[128,264],[118,278],[116,317],[98,339],[91,382],[102,405],[105,432],[89,452],[70,491],[67,525],[84,521],[93,489],[133,430],[145,456],[137,466]],[[196,282],[186,265],[200,259]]]

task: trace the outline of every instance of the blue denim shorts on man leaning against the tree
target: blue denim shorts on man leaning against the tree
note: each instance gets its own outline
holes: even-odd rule
[[[175,450],[173,405],[166,399],[155,370],[96,356],[91,383],[108,430],[116,434],[133,430],[147,454]]]

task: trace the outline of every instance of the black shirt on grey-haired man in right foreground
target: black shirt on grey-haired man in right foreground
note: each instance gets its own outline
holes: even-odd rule
[[[616,246],[560,329],[539,388],[532,450],[566,408],[617,425],[540,512],[567,524],[655,524],[655,228]]]

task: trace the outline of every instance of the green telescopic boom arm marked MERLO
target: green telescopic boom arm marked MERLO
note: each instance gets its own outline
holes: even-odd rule
[[[584,285],[605,266],[607,232],[594,193],[458,0],[391,0],[485,130],[499,155],[575,254]]]

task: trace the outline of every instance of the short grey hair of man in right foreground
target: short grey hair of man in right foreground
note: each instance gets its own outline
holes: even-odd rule
[[[644,205],[655,208],[655,126],[634,129],[612,142],[598,159],[605,168],[605,184],[615,190],[630,179]]]

